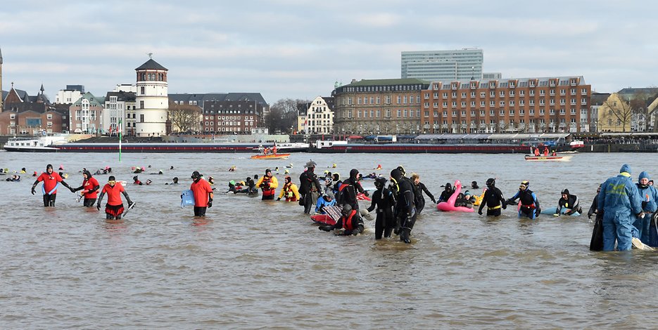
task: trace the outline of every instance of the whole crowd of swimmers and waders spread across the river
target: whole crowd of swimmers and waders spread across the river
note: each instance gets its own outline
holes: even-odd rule
[[[519,189],[510,199],[505,199],[501,190],[496,187],[495,178],[486,180],[486,188],[480,196],[474,196],[468,191],[462,193],[461,183],[457,180],[455,186],[450,183],[442,186],[444,190],[437,200],[420,181],[418,174],[412,173],[407,178],[404,167],[398,166],[391,171],[389,179],[373,175],[375,190],[372,192],[372,197],[368,198],[369,192],[361,185],[364,178],[358,169],[352,169],[350,176],[341,180],[339,173],[329,171],[325,171],[324,176],[319,178],[315,173],[316,167],[315,161],[308,161],[305,170],[299,176],[299,185],[293,183],[290,176],[286,176],[278,197],[276,189],[279,187],[279,182],[270,169],[266,169],[265,175],[260,178],[255,175],[239,183],[234,180],[229,181],[227,192],[258,195],[260,189],[263,200],[276,198],[277,201],[284,199],[286,202],[298,202],[307,215],[312,211],[322,214],[329,206],[339,206],[341,214],[336,223],[320,225],[319,229],[325,231],[340,229],[343,235],[362,233],[364,230],[362,216],[376,210],[375,239],[391,237],[394,232],[399,236],[400,241],[407,244],[411,242],[411,231],[416,219],[424,209],[424,194],[442,211],[474,211],[473,206],[479,206],[480,215],[483,215],[483,209],[486,207],[486,215],[496,217],[500,216],[501,210],[506,209],[508,205],[516,205],[519,217],[535,219],[542,213],[537,194],[530,189],[528,180],[521,181]],[[63,167],[60,166],[60,169],[63,170]],[[234,171],[235,168],[232,169]],[[381,169],[381,166],[378,169]],[[22,171],[25,173],[25,169]],[[111,169],[106,168],[106,173],[110,171]],[[102,189],[98,180],[87,169],[83,169],[82,178],[80,187],[71,187],[65,183],[63,176],[53,171],[53,166],[48,164],[46,171],[37,176],[31,192],[35,194],[37,185],[42,182],[44,206],[54,206],[57,188],[63,185],[71,192],[80,191],[84,206],[93,207],[96,204],[99,210],[103,197],[107,194],[105,209],[107,219],[120,219],[125,211],[121,194],[125,197],[128,206],[133,206],[134,203],[125,192],[125,188],[122,184],[118,184],[114,176],[108,177],[108,183]],[[193,183],[190,190],[194,192],[195,199],[194,215],[205,216],[206,209],[213,204],[215,188],[211,185],[214,179],[209,177],[205,180],[198,171],[192,173],[191,179]],[[139,184],[137,176],[134,177],[134,181]],[[178,184],[178,178],[167,184]],[[479,189],[476,181],[472,181],[471,188]],[[362,199],[369,199],[371,202],[367,212],[360,211],[358,201]],[[619,176],[609,178],[602,183],[587,212],[588,218],[596,215],[602,223],[602,250],[631,249],[631,245],[635,244],[633,239],[649,246],[658,246],[658,232],[654,231],[656,232],[654,237],[651,234],[651,225],[656,226],[652,223],[652,214],[657,211],[657,200],[658,190],[653,186],[649,174],[645,171],[641,172],[638,183],[632,183],[631,168],[626,164],[621,167]],[[583,209],[578,197],[571,194],[568,189],[564,189],[557,206],[551,208],[548,213],[554,216],[562,214],[579,216],[583,214]],[[656,229],[658,230],[658,227]]]

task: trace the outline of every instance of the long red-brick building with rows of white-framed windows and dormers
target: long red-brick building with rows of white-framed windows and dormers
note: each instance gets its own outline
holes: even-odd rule
[[[590,94],[578,76],[432,82],[422,91],[422,132],[588,131]]]

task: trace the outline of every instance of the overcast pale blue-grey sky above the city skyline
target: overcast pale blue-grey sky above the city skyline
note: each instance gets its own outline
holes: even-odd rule
[[[2,87],[105,95],[153,60],[170,93],[330,95],[400,78],[401,51],[482,48],[484,72],[658,85],[656,1],[6,1]]]

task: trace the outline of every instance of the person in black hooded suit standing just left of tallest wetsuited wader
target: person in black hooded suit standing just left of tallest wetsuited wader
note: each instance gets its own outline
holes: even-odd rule
[[[372,194],[372,202],[368,212],[377,209],[377,218],[374,221],[374,238],[381,239],[382,234],[384,237],[391,237],[391,232],[396,227],[396,220],[393,217],[393,206],[396,204],[396,198],[393,197],[393,192],[386,188],[386,178],[377,178],[374,180],[374,186],[377,190]]]

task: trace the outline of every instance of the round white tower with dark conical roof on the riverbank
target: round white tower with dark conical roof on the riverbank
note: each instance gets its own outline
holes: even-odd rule
[[[169,98],[167,93],[167,68],[149,59],[137,72],[136,136],[164,136],[167,123]]]

